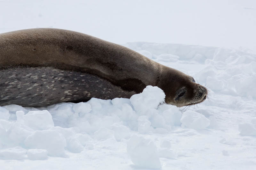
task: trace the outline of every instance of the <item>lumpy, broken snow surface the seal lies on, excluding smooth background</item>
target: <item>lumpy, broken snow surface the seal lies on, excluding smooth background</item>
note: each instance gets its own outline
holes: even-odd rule
[[[193,76],[209,99],[167,105],[147,86],[131,99],[0,107],[0,169],[255,169],[256,54],[126,43]]]

